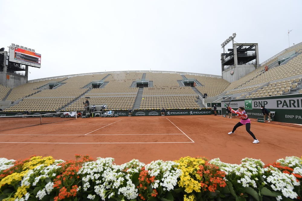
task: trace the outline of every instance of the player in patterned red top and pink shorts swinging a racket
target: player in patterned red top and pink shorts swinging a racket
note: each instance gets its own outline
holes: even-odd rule
[[[246,114],[246,111],[244,110],[245,108],[240,106],[238,108],[238,110],[233,110],[230,106],[228,107],[229,110],[234,113],[234,114],[237,114],[238,117],[241,119],[234,127],[233,127],[233,130],[232,132],[228,133],[229,135],[234,133],[234,131],[236,130],[236,128],[238,128],[239,126],[242,126],[242,125],[246,125],[246,131],[254,138],[254,141],[253,143],[254,144],[257,144],[259,143],[259,140],[256,139],[254,133],[252,133],[252,131],[250,130],[251,129],[251,120],[247,117],[247,114]]]

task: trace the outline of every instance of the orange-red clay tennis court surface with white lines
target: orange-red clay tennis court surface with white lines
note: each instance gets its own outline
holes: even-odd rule
[[[0,157],[31,155],[75,159],[75,154],[112,157],[116,164],[139,159],[176,160],[185,156],[240,163],[245,157],[275,162],[302,155],[302,126],[252,121],[253,144],[245,126],[228,135],[238,118],[214,115],[78,118],[0,131]]]

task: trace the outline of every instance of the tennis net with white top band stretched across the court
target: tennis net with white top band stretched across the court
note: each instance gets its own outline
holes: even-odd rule
[[[51,124],[60,121],[76,119],[76,111],[58,112],[34,115],[1,116],[0,131],[15,128],[29,127],[41,124]]]

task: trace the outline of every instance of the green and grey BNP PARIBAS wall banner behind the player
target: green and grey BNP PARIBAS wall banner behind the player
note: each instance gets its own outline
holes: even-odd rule
[[[225,106],[223,102],[221,104]],[[240,106],[245,108],[250,118],[262,118],[263,114],[260,107],[264,106],[275,112],[275,121],[302,124],[302,94],[237,99],[230,102],[230,107],[233,109]],[[222,113],[226,114],[226,109],[222,109]]]

